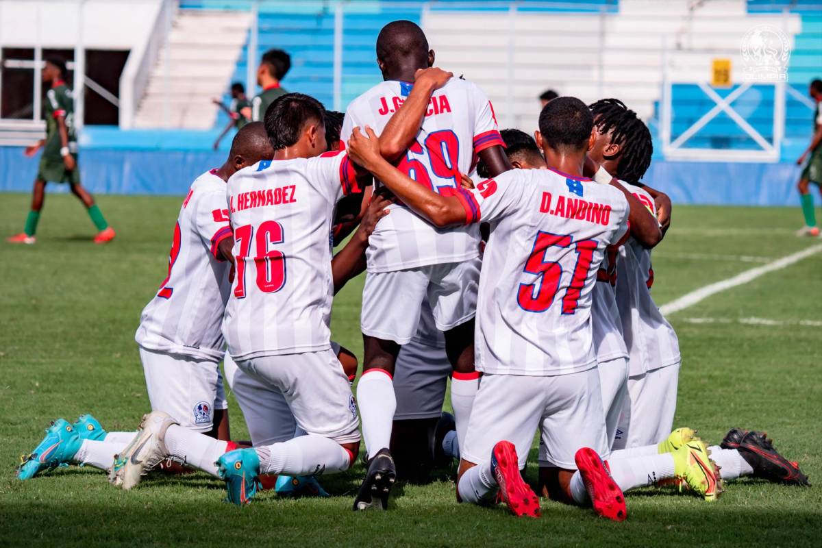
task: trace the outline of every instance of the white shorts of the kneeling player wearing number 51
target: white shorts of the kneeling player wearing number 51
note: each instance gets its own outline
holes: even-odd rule
[[[494,445],[508,440],[521,469],[537,429],[547,466],[576,470],[574,457],[583,447],[608,457],[596,367],[555,376],[483,375],[460,454],[469,462],[487,463]]]

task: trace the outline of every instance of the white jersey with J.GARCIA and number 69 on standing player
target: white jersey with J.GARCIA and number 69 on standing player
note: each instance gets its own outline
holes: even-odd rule
[[[412,84],[384,81],[354,99],[345,113],[340,137],[348,141],[353,127],[372,127],[381,134],[408,97]],[[477,154],[505,144],[486,94],[471,82],[451,78],[432,94],[417,140],[398,165],[432,191],[453,194],[459,174],[471,173]],[[379,184],[379,183],[377,183]],[[479,254],[478,226],[436,228],[404,205],[390,205],[368,238],[368,272],[392,272],[424,265],[469,260]]]

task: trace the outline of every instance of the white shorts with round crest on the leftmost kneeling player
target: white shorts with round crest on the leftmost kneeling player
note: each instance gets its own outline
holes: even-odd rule
[[[229,408],[219,363],[140,347],[152,411],[169,413],[193,431],[214,428],[214,410]]]

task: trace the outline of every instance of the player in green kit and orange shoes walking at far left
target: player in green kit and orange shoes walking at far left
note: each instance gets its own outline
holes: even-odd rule
[[[74,132],[74,99],[66,82],[66,64],[61,59],[49,58],[43,67],[43,82],[49,85],[43,104],[46,120],[46,138],[26,147],[25,155],[33,156],[43,149],[40,157],[35,188],[31,197],[31,210],[25,219],[25,230],[7,238],[12,243],[35,243],[37,223],[43,210],[46,183],[67,182],[72,194],[77,196],[88,210],[91,221],[98,230],[95,243],[111,242],[114,230],[95,205],[95,199],[80,184],[80,168],[77,165],[77,140]]]

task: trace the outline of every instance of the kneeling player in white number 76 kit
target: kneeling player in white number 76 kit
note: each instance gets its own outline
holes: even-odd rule
[[[450,73],[442,75],[440,80]],[[360,440],[357,407],[330,343],[337,280],[329,233],[339,200],[361,193],[360,180],[370,182],[371,176],[358,173],[348,154],[326,152],[324,119],[325,109],[312,97],[277,99],[266,113],[274,160],[241,170],[227,188],[236,265],[223,323],[229,354],[270,398],[285,398],[307,435],[224,453],[224,445],[152,412],[139,441],[120,455],[123,478],[139,478],[173,454],[222,477],[228,500],[246,504],[262,473],[307,476],[341,472],[353,463]],[[403,120],[391,131],[406,146],[417,126],[418,120]]]

